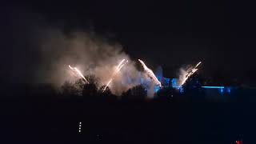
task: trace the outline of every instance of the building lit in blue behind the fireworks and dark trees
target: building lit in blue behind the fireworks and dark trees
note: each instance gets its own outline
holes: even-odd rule
[[[158,81],[162,83],[162,87],[152,87],[152,79],[144,77],[142,73],[138,73],[137,79],[127,77],[126,80],[122,82],[122,84],[136,82],[145,87],[147,91],[152,91],[152,88],[154,88],[154,93],[157,93],[158,90],[163,88],[174,88],[174,90],[176,89],[176,91],[181,95],[196,95],[200,92],[201,95],[203,94],[206,98],[210,99],[225,98],[232,93],[232,87],[230,86],[203,86],[202,82],[200,82],[200,80],[197,78],[189,78],[183,86],[178,86],[178,78],[164,78],[161,73],[156,73],[156,77],[158,78]]]

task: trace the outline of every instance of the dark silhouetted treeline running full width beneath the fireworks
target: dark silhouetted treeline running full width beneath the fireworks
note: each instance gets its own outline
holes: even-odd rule
[[[157,93],[149,96],[146,86],[131,87],[120,95],[115,95],[109,87],[100,86],[94,75],[86,76],[89,84],[78,79],[75,82],[64,82],[58,89],[51,84],[2,84],[1,99],[6,100],[85,100],[86,102],[116,102],[116,101],[162,101],[162,102],[256,102],[256,90],[233,88],[227,93],[218,90],[206,90],[189,81],[182,89],[162,86]]]

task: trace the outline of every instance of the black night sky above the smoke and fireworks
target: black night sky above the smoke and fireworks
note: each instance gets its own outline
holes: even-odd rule
[[[19,19],[20,14],[34,16],[23,20]],[[29,65],[37,64],[37,56],[26,50],[29,45],[26,36],[31,36],[28,27],[40,25],[43,19],[42,25],[59,26],[66,31],[92,29],[120,42],[131,58],[142,58],[152,68],[162,66],[166,77],[173,77],[181,66],[202,61],[199,73],[205,77],[220,74],[256,85],[254,3],[222,0],[8,2],[2,5],[1,17],[1,59],[6,64],[1,71],[2,75],[12,78],[14,67],[15,70],[22,67],[22,62],[15,59],[17,55],[23,54]],[[35,23],[30,22],[30,18],[34,18]],[[17,46],[19,42],[22,44]]]

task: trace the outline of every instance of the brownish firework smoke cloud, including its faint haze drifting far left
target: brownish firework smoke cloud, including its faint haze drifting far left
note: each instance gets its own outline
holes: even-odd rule
[[[145,71],[137,70],[122,45],[95,34],[94,30],[66,29],[65,23],[52,26],[38,14],[12,14],[12,46],[6,47],[10,48],[7,52],[11,56],[2,54],[3,60],[13,58],[11,65],[6,66],[9,71],[5,71],[10,82],[50,83],[59,88],[81,78],[70,69],[72,66],[85,77],[94,75],[102,87],[110,81],[122,59],[128,62],[109,85],[114,94],[122,94],[141,84],[141,78],[148,78]]]

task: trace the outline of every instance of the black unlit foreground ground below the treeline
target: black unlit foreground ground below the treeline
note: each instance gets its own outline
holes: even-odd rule
[[[5,100],[0,106],[1,143],[256,141],[254,102]]]

